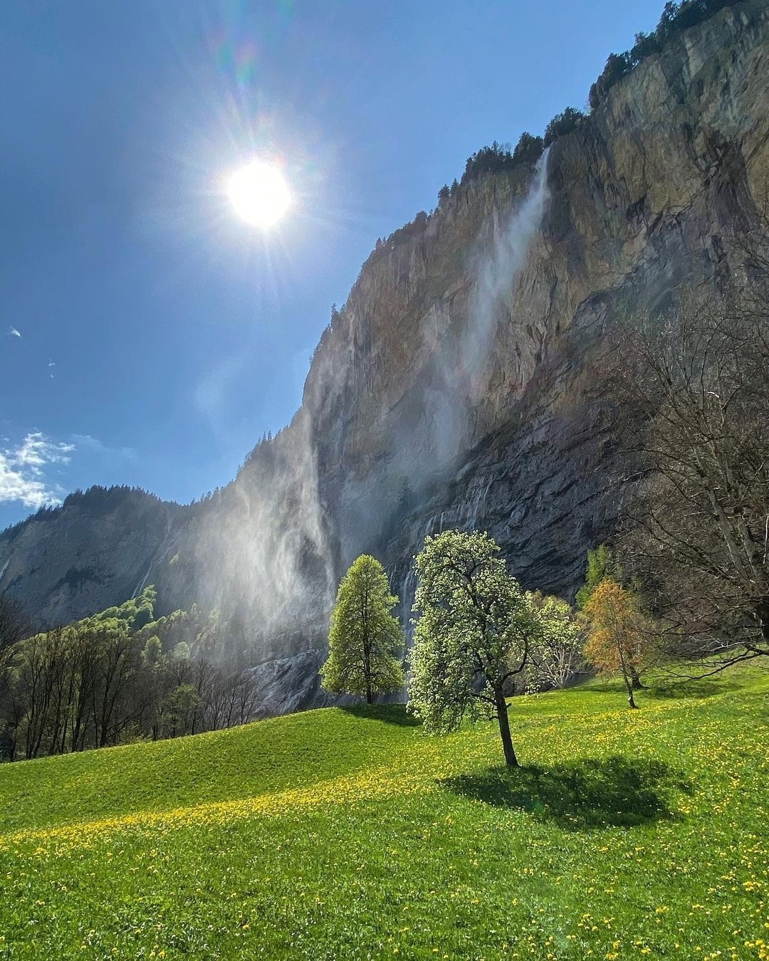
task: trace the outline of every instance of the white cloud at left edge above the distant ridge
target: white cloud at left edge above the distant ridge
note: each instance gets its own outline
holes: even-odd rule
[[[25,507],[61,504],[62,489],[46,480],[44,468],[68,464],[74,450],[74,444],[57,444],[40,431],[28,433],[16,446],[0,447],[0,503],[21,501]]]

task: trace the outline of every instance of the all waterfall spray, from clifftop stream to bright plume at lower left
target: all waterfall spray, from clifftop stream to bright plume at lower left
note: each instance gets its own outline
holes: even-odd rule
[[[545,152],[528,190],[509,213],[495,209],[462,254],[469,283],[457,316],[438,304],[420,317],[420,356],[407,357],[412,366],[399,404],[381,406],[368,386],[370,368],[352,343],[368,343],[369,319],[360,304],[346,306],[339,322],[346,327],[335,331],[335,348],[313,363],[291,424],[258,446],[237,480],[200,505],[190,593],[242,621],[244,632],[261,638],[264,656],[322,643],[344,567],[405,523],[430,485],[444,473],[450,478],[458,456],[478,441],[494,338],[511,316],[549,196],[547,160]],[[386,449],[370,461],[360,449],[351,452],[343,428],[323,434],[327,423],[335,431],[347,424],[353,414],[346,406],[361,397],[367,406],[355,415],[358,443],[380,437]],[[319,459],[327,465],[322,477]],[[330,461],[337,465],[332,488]],[[430,530],[437,523],[431,519]]]

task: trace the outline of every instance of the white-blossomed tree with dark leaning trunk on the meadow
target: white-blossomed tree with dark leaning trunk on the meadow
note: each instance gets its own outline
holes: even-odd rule
[[[505,760],[517,766],[506,695],[539,635],[531,604],[487,533],[426,538],[416,572],[410,709],[434,733],[465,715],[496,718]]]

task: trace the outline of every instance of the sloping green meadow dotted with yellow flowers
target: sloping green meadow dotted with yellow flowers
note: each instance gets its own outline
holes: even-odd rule
[[[0,768],[0,958],[761,958],[769,674]]]

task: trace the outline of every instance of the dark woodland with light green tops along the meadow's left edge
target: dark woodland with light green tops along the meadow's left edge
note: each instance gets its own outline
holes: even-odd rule
[[[84,751],[251,720],[258,686],[222,656],[215,611],[159,617],[155,589],[30,635],[0,598],[0,759]],[[218,649],[218,650],[217,650]]]

